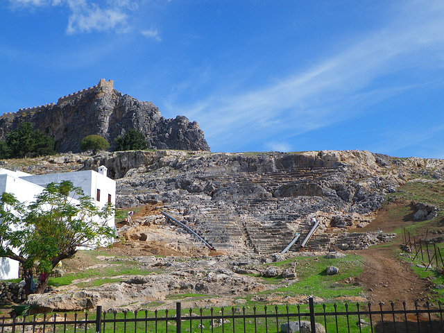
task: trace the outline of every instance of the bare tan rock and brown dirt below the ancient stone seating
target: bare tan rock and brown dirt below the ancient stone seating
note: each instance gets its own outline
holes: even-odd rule
[[[278,285],[264,283],[260,278],[252,276],[282,274],[282,269],[277,268],[278,271],[273,272],[264,264],[299,256],[316,257],[327,254],[298,252],[287,255],[253,253],[239,255],[226,250],[210,251],[204,246],[193,245],[189,234],[175,226],[165,224],[164,218],[156,214],[158,209],[158,206],[144,207],[135,215],[132,225],[119,223],[121,240],[114,243],[112,248],[101,248],[100,255],[96,256],[99,264],[88,264],[89,259],[83,253],[74,259],[69,259],[64,267],[67,273],[73,273],[92,270],[98,266],[112,268],[113,265],[130,259],[136,262],[139,268],[151,273],[118,275],[114,278],[120,282],[105,283],[100,287],[82,287],[85,282],[91,282],[92,279],[100,280],[100,277],[74,280],[69,286],[56,289],[56,293],[31,296],[31,302],[58,311],[93,308],[98,304],[108,311],[135,310],[144,307],[165,309],[175,307],[178,300],[185,308],[231,307],[246,302],[248,295],[273,290],[282,287],[282,284],[298,283],[297,276],[284,279]],[[370,223],[366,228],[380,228],[381,225],[378,225]],[[391,228],[389,225],[385,227]],[[141,240],[141,236],[144,240]],[[377,304],[405,301],[411,304],[427,300],[432,282],[418,278],[407,262],[395,259],[391,248],[368,248],[341,251],[341,253],[343,255],[357,253],[364,257],[363,273],[359,277],[345,279],[344,283],[363,287],[365,295],[352,298],[338,297],[337,302]],[[174,297],[171,298],[171,295]],[[251,300],[267,304],[304,304],[307,303],[307,295],[282,296],[282,293],[272,292],[255,296]],[[322,302],[323,298],[317,297],[316,301]]]

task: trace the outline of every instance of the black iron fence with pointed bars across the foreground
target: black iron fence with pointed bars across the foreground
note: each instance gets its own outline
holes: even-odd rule
[[[301,327],[299,331],[299,327]],[[298,330],[296,330],[298,329]],[[324,331],[325,330],[325,331]],[[414,306],[314,304],[45,314],[0,318],[0,333],[415,332],[444,333],[442,303]]]

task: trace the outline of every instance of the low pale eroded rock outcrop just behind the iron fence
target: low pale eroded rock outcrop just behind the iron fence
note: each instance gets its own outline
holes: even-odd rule
[[[156,258],[147,257],[146,262],[155,264]],[[174,260],[172,260],[174,262]],[[180,293],[203,293],[219,296],[245,296],[273,286],[262,284],[257,278],[239,275],[228,268],[215,265],[216,262],[196,262],[193,268],[187,264],[171,264],[171,272],[155,275],[136,275],[119,283],[103,284],[88,289],[67,289],[58,293],[31,294],[28,303],[53,311],[78,311],[101,305],[105,311],[138,306],[159,300],[168,295]],[[212,269],[208,267],[214,266]]]

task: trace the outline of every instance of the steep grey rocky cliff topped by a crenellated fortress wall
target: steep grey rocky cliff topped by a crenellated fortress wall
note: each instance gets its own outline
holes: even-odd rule
[[[165,119],[153,103],[121,94],[111,80],[101,79],[98,85],[61,97],[56,104],[3,114],[0,138],[23,121],[54,137],[59,152],[78,152],[80,140],[93,134],[112,145],[115,137],[130,129],[142,132],[150,148],[210,150],[196,121],[183,116]]]

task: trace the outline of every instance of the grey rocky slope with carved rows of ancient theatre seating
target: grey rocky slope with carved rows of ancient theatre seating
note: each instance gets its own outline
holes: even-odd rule
[[[50,157],[24,171],[51,172],[58,170],[55,164],[74,169],[103,164],[117,180],[118,207],[161,204],[215,248],[246,253],[280,252],[296,232],[301,237],[292,250],[298,250],[311,217],[320,221],[306,245],[311,250],[386,241],[393,234],[346,231],[370,223],[399,185],[444,175],[443,160],[402,160],[368,151],[123,151]]]

